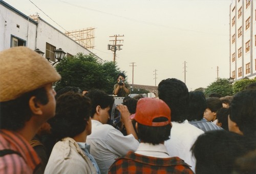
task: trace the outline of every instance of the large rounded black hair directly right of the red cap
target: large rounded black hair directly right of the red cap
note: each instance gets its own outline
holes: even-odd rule
[[[172,111],[172,121],[183,122],[187,118],[189,93],[184,82],[176,78],[162,80],[158,84],[158,96]]]

